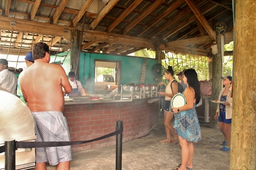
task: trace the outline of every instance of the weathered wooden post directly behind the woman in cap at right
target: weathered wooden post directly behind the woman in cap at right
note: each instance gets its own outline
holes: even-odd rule
[[[212,100],[218,99],[218,96],[222,87],[221,34],[217,34],[216,40],[218,45],[218,53],[215,55],[212,55]],[[217,103],[211,103],[211,116],[210,116],[211,128],[218,128],[218,121],[216,121],[214,118],[216,109],[217,109]]]

